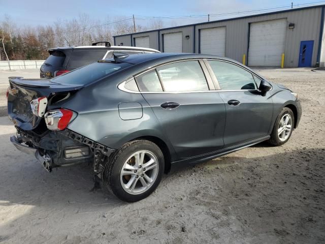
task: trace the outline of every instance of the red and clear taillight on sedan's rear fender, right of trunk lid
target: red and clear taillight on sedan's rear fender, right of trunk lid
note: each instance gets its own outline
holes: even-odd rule
[[[62,131],[67,128],[72,116],[73,111],[69,109],[56,109],[46,112],[44,118],[49,130]]]

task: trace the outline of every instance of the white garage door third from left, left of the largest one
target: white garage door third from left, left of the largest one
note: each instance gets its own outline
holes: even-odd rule
[[[225,55],[225,27],[200,30],[200,52],[205,54]]]

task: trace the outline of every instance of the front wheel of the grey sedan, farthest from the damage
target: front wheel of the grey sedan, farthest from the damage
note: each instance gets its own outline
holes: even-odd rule
[[[284,123],[285,118],[289,118],[287,124]],[[289,108],[284,107],[275,120],[269,143],[274,146],[280,146],[286,143],[291,137],[291,134],[293,133],[294,125],[295,125],[295,116],[293,111]],[[282,133],[280,133],[281,128],[282,128]]]

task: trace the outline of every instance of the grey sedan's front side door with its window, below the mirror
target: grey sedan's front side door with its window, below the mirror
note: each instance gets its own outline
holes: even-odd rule
[[[269,135],[273,101],[269,93],[262,96],[257,85],[261,78],[229,62],[209,60],[221,88],[226,109],[224,146],[245,143]]]

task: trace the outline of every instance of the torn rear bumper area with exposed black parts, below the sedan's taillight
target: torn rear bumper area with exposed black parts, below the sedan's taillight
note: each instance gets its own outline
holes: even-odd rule
[[[34,155],[46,170],[80,163],[93,163],[95,173],[102,171],[103,160],[115,149],[96,143],[68,129],[36,135],[19,127],[10,141],[25,154]]]

